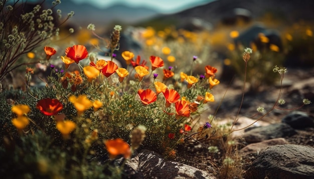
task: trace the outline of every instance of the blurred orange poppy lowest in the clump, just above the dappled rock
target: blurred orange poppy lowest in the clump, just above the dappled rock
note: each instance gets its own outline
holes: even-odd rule
[[[131,156],[130,145],[121,138],[105,140],[105,145],[111,159],[117,155],[123,155],[124,158]]]

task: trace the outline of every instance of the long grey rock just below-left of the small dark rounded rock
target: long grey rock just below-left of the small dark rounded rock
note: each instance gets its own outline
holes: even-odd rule
[[[243,137],[247,143],[255,143],[272,138],[291,136],[295,133],[296,131],[286,123],[274,123],[246,131]]]

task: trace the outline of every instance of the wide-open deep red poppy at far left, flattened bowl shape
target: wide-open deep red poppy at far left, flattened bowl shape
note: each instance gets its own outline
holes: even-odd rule
[[[58,99],[45,98],[37,102],[36,108],[45,115],[55,115],[63,109],[63,105]]]

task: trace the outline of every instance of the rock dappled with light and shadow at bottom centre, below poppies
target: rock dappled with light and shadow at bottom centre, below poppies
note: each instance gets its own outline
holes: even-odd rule
[[[159,154],[142,150],[138,153],[139,168],[144,178],[216,178],[196,167],[175,161],[167,161]]]

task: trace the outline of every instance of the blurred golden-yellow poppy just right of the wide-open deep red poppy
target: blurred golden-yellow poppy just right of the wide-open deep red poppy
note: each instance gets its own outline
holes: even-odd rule
[[[93,102],[85,94],[79,95],[77,98],[75,95],[71,95],[69,101],[74,104],[78,114],[82,114],[85,110],[93,106]]]

